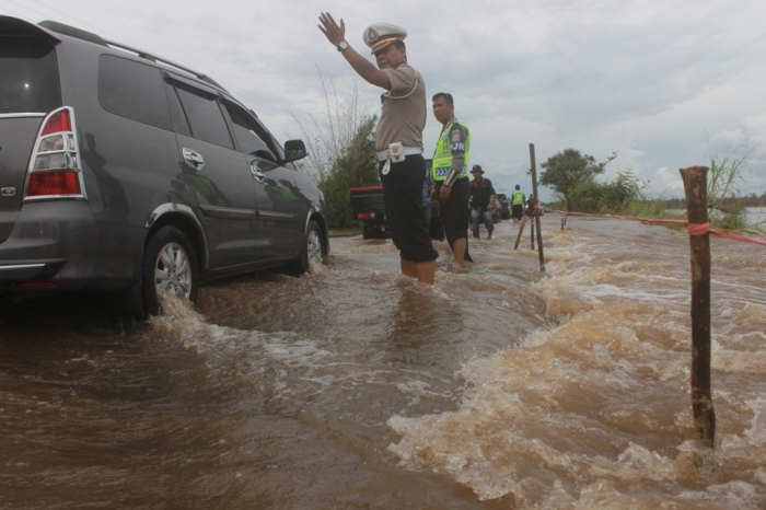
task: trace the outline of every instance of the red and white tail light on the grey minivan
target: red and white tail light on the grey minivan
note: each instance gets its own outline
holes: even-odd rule
[[[45,117],[30,159],[24,201],[86,199],[77,143],[74,109],[58,108]]]

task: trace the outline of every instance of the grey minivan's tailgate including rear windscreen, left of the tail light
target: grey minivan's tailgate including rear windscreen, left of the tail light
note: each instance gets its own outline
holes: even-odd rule
[[[54,42],[34,32],[39,28],[0,16],[0,243],[11,234],[21,210],[43,118],[61,106]]]

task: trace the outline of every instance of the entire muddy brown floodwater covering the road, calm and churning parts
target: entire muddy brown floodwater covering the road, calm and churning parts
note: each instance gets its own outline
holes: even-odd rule
[[[0,311],[0,508],[766,508],[766,250],[711,239],[700,474],[688,236],[559,219],[545,277],[503,221],[430,290],[355,236],[146,324]]]

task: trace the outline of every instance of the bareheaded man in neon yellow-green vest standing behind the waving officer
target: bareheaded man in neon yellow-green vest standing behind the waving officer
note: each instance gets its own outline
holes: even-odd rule
[[[446,242],[452,248],[455,264],[463,267],[463,260],[474,262],[468,254],[471,184],[467,165],[471,132],[468,126],[455,117],[452,94],[439,92],[431,101],[433,116],[442,125],[431,162],[431,179],[434,184],[431,201],[441,204],[439,217]]]

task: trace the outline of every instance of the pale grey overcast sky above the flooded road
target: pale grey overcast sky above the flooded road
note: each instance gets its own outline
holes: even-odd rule
[[[409,32],[409,63],[429,96],[454,95],[471,164],[499,192],[529,193],[529,143],[538,163],[567,148],[616,152],[607,177],[632,169],[654,196],[683,194],[680,167],[751,151],[740,190],[766,192],[763,0],[0,0],[0,14],[71,24],[205,72],[282,139],[300,132],[291,114],[318,113],[317,66],[355,77],[317,28],[322,11],[345,20],[363,54],[370,23]],[[379,113],[381,91],[362,90]],[[439,127],[429,116],[427,155]]]

